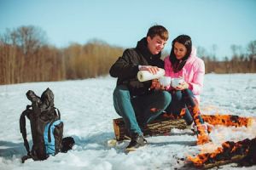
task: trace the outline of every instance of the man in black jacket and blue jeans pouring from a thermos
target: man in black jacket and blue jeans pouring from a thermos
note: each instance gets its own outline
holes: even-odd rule
[[[168,31],[164,26],[152,26],[147,37],[137,42],[136,48],[125,49],[110,68],[110,75],[118,77],[113,91],[114,109],[123,117],[131,134],[128,151],[147,143],[141,127],[153,121],[171,102],[171,94],[150,88],[152,81],[139,82],[137,79],[138,71],[156,74],[159,68],[164,68],[160,55],[167,40]]]

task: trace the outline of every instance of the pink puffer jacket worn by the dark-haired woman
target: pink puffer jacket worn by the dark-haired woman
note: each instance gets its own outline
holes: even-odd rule
[[[186,64],[183,66],[183,69],[177,73],[172,71],[172,63],[169,56],[164,60],[166,77],[183,77],[184,81],[189,83],[189,89],[193,92],[197,101],[200,102],[200,94],[203,88],[205,75],[205,64],[202,59],[196,56],[196,48],[192,48],[192,52]]]

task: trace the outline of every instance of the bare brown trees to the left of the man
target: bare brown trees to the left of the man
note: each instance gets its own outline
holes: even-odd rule
[[[107,75],[123,48],[91,40],[55,48],[35,26],[20,26],[0,35],[0,84],[50,82]]]

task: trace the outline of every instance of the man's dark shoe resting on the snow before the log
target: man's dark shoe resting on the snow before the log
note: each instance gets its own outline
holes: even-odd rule
[[[145,144],[147,144],[147,140],[144,139],[143,134],[134,133],[131,135],[131,142],[126,147],[126,151],[137,150]]]

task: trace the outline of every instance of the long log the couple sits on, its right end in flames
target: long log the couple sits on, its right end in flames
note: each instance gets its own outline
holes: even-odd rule
[[[212,125],[224,125],[224,126],[246,126],[250,124],[251,118],[233,116],[233,115],[201,115],[205,122]],[[168,114],[162,114],[154,122],[148,123],[144,127],[144,135],[163,135],[170,133],[172,128],[184,129],[186,123],[180,116],[173,116]],[[125,122],[122,118],[113,119],[113,129],[117,140],[123,140],[126,137],[129,138],[129,133],[125,128]]]

